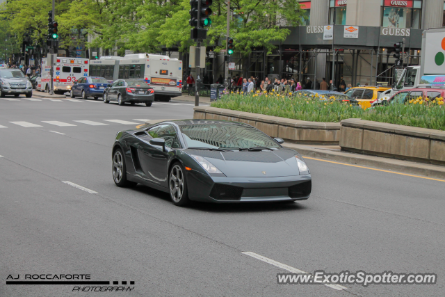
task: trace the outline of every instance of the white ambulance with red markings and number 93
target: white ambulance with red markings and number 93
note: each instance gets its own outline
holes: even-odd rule
[[[74,81],[81,77],[89,76],[89,59],[57,57],[54,63],[54,93],[62,95],[70,92]],[[36,90],[49,92],[51,81],[51,65],[47,58],[42,58],[42,77],[36,86]]]

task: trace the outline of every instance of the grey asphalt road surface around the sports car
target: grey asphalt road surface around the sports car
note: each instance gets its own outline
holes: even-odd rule
[[[0,296],[445,295],[445,182],[307,159],[305,202],[175,207],[151,188],[115,186],[111,145],[143,120],[192,118],[191,102],[38,100],[0,98]],[[24,127],[32,125],[40,127]],[[277,284],[288,271],[243,252],[308,273],[421,272],[438,281]],[[6,284],[8,275],[43,273],[135,284],[115,293]]]

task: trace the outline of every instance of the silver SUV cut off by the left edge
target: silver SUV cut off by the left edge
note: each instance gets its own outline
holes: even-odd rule
[[[26,98],[33,96],[33,85],[27,79],[23,72],[18,69],[0,69],[0,97],[5,95],[20,94],[26,95]]]

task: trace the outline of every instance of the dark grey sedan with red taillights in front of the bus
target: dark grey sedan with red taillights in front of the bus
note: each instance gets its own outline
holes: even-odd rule
[[[145,103],[152,106],[154,90],[145,81],[137,79],[118,79],[104,91],[104,102],[117,101],[119,105]]]

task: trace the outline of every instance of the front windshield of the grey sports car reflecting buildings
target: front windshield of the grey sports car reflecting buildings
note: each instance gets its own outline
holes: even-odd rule
[[[263,132],[241,123],[184,125],[180,129],[188,147],[280,147]]]

